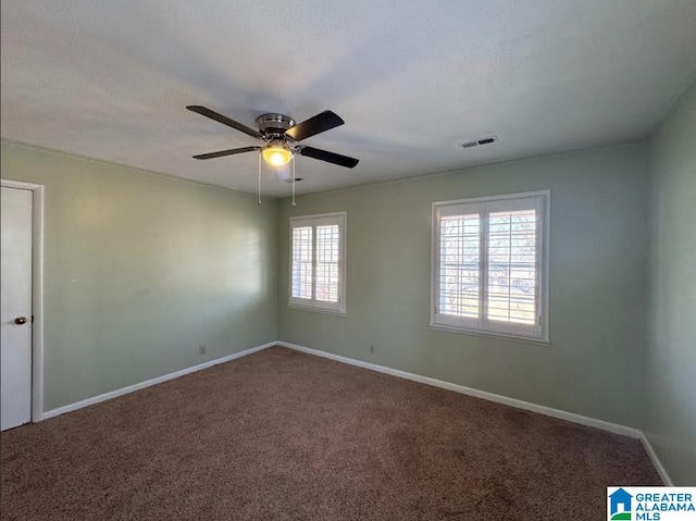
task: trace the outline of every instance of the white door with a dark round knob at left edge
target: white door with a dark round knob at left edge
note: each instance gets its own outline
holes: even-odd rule
[[[32,190],[2,187],[2,431],[32,420],[33,197]]]

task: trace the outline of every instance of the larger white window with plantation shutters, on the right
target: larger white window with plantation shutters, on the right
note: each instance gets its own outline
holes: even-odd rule
[[[548,342],[549,199],[433,204],[431,326]]]

